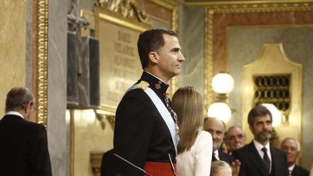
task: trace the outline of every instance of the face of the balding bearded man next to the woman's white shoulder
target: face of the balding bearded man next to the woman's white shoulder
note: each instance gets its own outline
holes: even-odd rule
[[[203,124],[203,130],[211,133],[213,139],[213,152],[218,150],[224,138],[224,124],[222,120],[217,118],[208,118]]]

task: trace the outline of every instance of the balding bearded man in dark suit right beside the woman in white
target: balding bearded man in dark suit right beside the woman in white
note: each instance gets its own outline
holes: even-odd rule
[[[203,130],[209,132],[213,139],[212,161],[222,160],[231,164],[234,158],[219,150],[224,139],[225,124],[222,120],[215,117],[206,117],[204,119]]]

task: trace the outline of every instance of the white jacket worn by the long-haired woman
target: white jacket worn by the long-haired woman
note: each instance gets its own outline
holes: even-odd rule
[[[200,131],[191,149],[177,156],[177,176],[210,176],[212,149],[211,134]]]

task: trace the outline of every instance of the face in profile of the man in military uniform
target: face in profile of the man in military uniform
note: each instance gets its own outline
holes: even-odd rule
[[[180,63],[185,60],[180,52],[180,46],[177,37],[163,34],[164,46],[157,51],[157,67],[160,74],[168,79],[173,78],[180,72]]]

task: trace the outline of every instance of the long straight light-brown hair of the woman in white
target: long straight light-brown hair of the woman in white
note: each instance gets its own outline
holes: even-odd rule
[[[172,108],[179,126],[178,154],[189,151],[203,125],[204,105],[201,94],[193,87],[179,88],[173,95]]]

